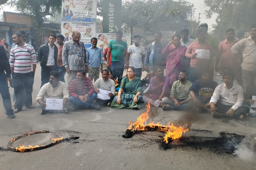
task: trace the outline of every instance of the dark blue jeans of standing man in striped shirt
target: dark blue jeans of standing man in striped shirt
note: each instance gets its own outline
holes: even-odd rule
[[[13,73],[13,88],[16,97],[15,109],[21,110],[23,103],[26,107],[32,106],[32,92],[34,83],[34,73]],[[24,87],[21,88],[21,87]],[[25,94],[25,96],[24,96]]]

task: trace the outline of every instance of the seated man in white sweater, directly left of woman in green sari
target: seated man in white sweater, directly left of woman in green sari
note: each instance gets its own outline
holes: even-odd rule
[[[110,99],[103,100],[103,99],[96,99],[96,103],[100,105],[107,105],[114,99],[115,95],[115,82],[109,78],[109,71],[107,69],[102,70],[101,72],[102,78],[97,79],[94,82],[94,88],[96,93],[100,93],[101,90],[111,91],[111,93],[108,94]],[[109,104],[110,105],[110,104]]]

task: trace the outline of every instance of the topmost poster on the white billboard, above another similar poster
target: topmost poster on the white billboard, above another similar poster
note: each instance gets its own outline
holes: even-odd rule
[[[61,21],[96,22],[97,0],[62,0]]]

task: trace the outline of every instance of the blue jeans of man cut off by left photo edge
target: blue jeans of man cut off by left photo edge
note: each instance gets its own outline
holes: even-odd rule
[[[0,93],[3,98],[5,114],[12,115],[13,114],[12,102],[11,102],[8,84],[6,83],[5,78],[6,78],[6,74],[4,72],[0,72]]]

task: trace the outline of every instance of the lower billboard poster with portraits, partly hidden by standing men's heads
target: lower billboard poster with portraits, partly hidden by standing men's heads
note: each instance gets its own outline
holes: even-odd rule
[[[81,41],[86,47],[91,46],[91,38],[96,35],[96,23],[87,22],[61,22],[61,34],[65,37],[64,41],[72,38],[73,31],[81,33]]]

